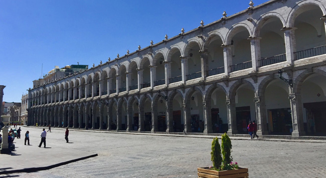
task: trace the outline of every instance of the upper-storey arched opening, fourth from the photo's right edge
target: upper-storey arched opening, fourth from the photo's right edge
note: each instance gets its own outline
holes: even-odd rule
[[[218,75],[224,73],[224,54],[221,37],[218,35],[212,37],[209,41],[208,52],[208,71],[207,76]]]

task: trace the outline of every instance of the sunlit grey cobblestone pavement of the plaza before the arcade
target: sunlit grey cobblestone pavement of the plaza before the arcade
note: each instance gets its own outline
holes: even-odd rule
[[[73,143],[65,144],[63,132],[53,129],[53,141],[47,140],[47,145],[91,151],[98,156],[49,170],[0,177],[197,177],[197,167],[212,165],[211,138],[70,130],[69,141]],[[248,167],[249,177],[326,177],[326,143],[248,139],[232,140],[232,147],[233,160]],[[51,161],[51,157],[43,156],[44,161]]]

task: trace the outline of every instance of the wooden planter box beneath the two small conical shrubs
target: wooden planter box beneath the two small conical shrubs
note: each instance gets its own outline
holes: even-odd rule
[[[200,178],[238,178],[248,177],[248,168],[239,167],[232,170],[211,170],[209,167],[198,167],[198,177]]]

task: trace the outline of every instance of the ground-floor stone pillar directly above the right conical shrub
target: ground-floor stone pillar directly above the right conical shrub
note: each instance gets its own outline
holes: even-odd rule
[[[237,133],[237,119],[236,119],[236,111],[235,111],[235,99],[227,99],[227,116],[228,116],[228,134],[231,135],[233,133]]]

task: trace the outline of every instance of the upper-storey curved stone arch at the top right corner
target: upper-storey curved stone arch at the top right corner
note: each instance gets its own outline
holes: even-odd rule
[[[315,5],[315,6],[318,6],[320,8],[320,10],[322,11],[323,16],[326,15],[326,9],[322,5],[322,3],[320,3],[319,1],[316,1],[316,0],[302,1],[302,2],[300,2],[298,4],[296,4],[291,9],[291,12],[289,13],[289,15],[287,17],[287,25],[286,25],[287,27],[294,27],[294,21],[295,21],[296,17],[302,13],[302,12],[300,12],[300,10],[303,9],[301,7],[306,6],[306,5]]]

